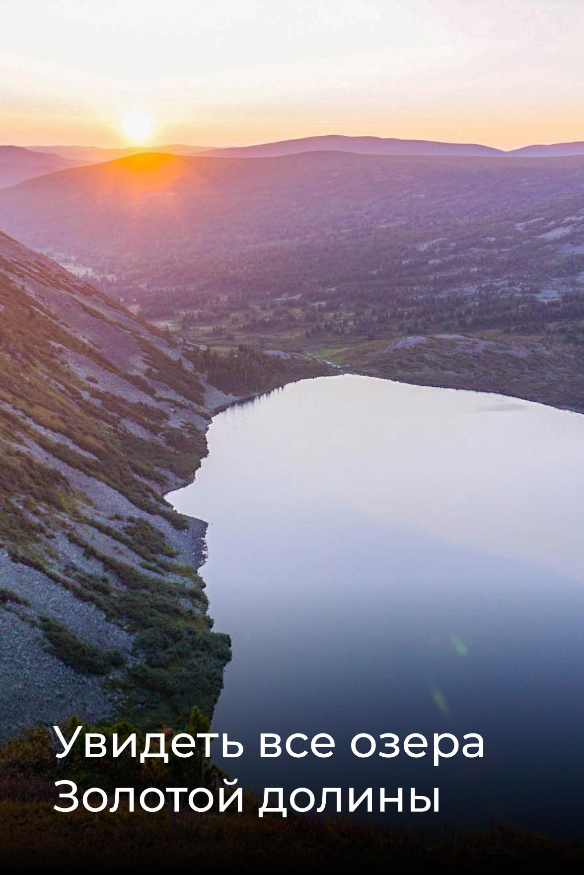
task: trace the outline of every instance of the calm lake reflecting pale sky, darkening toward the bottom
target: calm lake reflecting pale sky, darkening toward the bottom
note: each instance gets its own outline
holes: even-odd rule
[[[219,766],[316,805],[372,787],[379,812],[402,787],[392,823],[584,836],[584,416],[342,375],[228,409],[208,438],[169,499],[209,521],[202,574],[233,638],[212,729],[244,754],[215,742]],[[261,732],[336,746],[260,759]],[[477,732],[484,757],[358,759],[358,732]],[[412,787],[439,787],[440,813],[410,816]]]

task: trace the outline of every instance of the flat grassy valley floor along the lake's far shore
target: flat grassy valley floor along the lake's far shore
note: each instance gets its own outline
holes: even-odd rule
[[[173,334],[219,350],[245,344],[312,357],[344,371],[421,386],[497,392],[584,413],[584,346],[559,332],[390,333],[339,338],[307,337],[301,331],[236,332],[217,337],[208,325],[184,328],[165,322]]]

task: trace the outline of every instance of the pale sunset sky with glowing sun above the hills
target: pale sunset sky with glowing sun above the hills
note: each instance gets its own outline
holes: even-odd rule
[[[582,45],[581,0],[0,0],[0,142],[582,140]]]

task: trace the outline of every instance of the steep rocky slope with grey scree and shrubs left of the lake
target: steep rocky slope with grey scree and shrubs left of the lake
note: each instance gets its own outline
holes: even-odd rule
[[[230,658],[192,479],[230,395],[162,332],[0,234],[0,735],[73,712],[182,725]]]

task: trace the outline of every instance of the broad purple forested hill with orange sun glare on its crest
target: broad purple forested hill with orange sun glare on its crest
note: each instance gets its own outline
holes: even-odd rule
[[[413,288],[577,284],[583,183],[584,158],[143,154],[4,189],[0,225],[115,277],[118,296],[335,287],[390,303]]]

